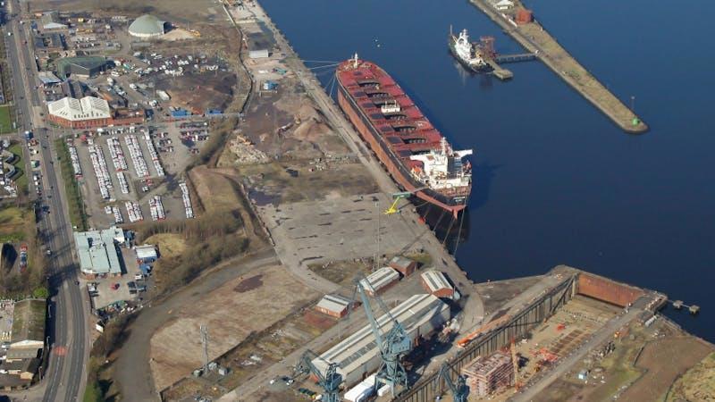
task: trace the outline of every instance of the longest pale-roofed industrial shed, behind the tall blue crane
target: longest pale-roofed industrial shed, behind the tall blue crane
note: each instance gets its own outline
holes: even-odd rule
[[[405,328],[413,344],[416,339],[427,337],[440,329],[450,319],[450,307],[438,297],[426,294],[409,297],[391,309],[390,313]],[[379,317],[377,324],[382,333],[392,328],[387,314]],[[341,373],[348,387],[361,381],[366,374],[376,371],[380,365],[380,351],[370,324],[313,360],[315,367],[322,372],[330,363],[338,364],[338,373]]]

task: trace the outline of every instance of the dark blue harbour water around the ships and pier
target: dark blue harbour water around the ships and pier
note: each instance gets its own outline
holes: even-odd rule
[[[450,24],[496,37],[501,53],[521,51],[466,2],[261,3],[303,59],[357,51],[399,80],[455,147],[475,148],[470,236],[457,253],[472,279],[570,264],[702,306],[697,317],[670,315],[715,340],[715,3],[530,3],[616,96],[635,96],[652,128],[639,137],[541,63],[510,64],[508,83],[466,76],[447,52]]]

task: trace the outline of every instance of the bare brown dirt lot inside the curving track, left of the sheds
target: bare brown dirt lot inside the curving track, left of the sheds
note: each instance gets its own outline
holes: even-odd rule
[[[274,265],[226,281],[198,302],[167,313],[171,320],[151,338],[149,365],[156,389],[172,385],[203,363],[200,325],[208,328],[208,356],[214,359],[314,297],[315,291]]]

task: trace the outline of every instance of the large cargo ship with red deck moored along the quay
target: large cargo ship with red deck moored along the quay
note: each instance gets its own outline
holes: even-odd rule
[[[405,91],[357,54],[336,71],[338,103],[401,188],[455,217],[467,205],[472,150],[455,151]]]

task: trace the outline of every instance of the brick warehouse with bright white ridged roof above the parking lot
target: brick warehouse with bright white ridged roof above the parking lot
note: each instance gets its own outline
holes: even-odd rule
[[[50,121],[72,129],[104,127],[112,123],[109,104],[95,96],[85,96],[81,99],[63,97],[48,103],[47,111]]]

